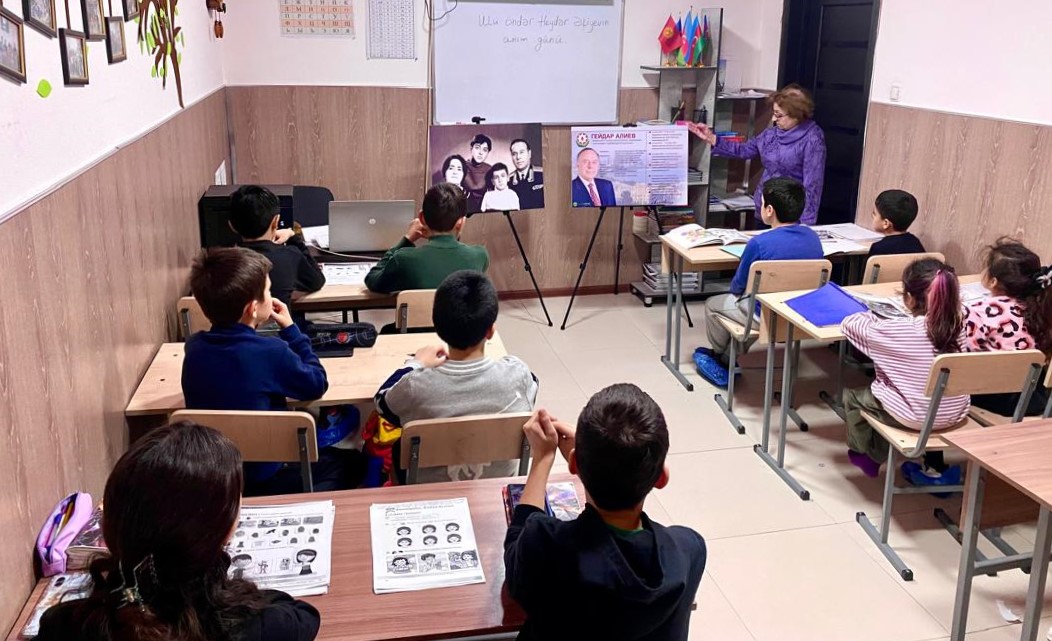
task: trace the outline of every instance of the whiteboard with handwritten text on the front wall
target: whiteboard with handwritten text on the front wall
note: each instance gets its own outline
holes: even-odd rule
[[[623,0],[434,0],[434,122],[618,122]]]

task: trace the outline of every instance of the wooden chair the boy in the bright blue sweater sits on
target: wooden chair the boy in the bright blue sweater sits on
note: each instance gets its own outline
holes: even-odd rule
[[[746,283],[745,288],[749,293],[747,297],[749,308],[755,308],[756,296],[760,294],[821,287],[829,280],[829,274],[832,268],[832,263],[828,260],[757,260],[752,263],[749,281]],[[745,425],[742,424],[742,421],[734,414],[735,362],[739,352],[745,352],[746,346],[751,341],[765,336],[765,333],[761,333],[760,322],[756,321],[754,314],[748,316],[744,325],[724,316],[720,316],[717,319],[730,332],[729,356],[731,366],[727,380],[727,398],[724,399],[723,394],[716,394],[715,400],[720,408],[723,409],[724,416],[730,421],[731,426],[739,434],[745,434]],[[785,325],[785,323],[782,323],[782,325]],[[784,340],[785,337],[780,335],[776,338]],[[786,346],[786,348],[790,347]],[[790,400],[783,399],[783,402],[788,403]],[[792,413],[792,418],[797,425],[806,428],[806,423],[800,419],[800,416],[795,412]]]

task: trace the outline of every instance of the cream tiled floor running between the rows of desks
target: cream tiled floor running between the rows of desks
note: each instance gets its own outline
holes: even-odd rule
[[[811,493],[800,500],[753,453],[760,439],[763,370],[742,377],[739,436],[713,401],[715,389],[691,370],[689,354],[705,344],[704,308],[691,304],[693,329],[684,324],[686,392],[661,364],[665,307],[635,298],[582,297],[565,332],[559,323],[569,302],[546,299],[555,321],[548,327],[537,301],[501,306],[498,329],[508,352],[541,380],[539,404],[576,418],[588,396],[605,385],[632,382],[661,404],[671,432],[671,483],[647,501],[665,524],[695,528],[709,544],[709,563],[697,595],[691,639],[699,641],[944,641],[949,638],[960,547],[932,518],[933,507],[953,514],[959,499],[896,497],[891,541],[914,569],[904,582],[855,523],[874,519],[882,479],[869,479],[847,460],[843,423],[817,398],[832,388],[835,355],[805,346],[796,400],[811,429],[791,427],[787,467]],[[386,322],[388,314],[381,319]],[[373,320],[365,319],[363,320]],[[750,354],[746,367],[762,367]],[[854,378],[854,384],[865,379]],[[1007,535],[1026,548],[1032,528]],[[996,601],[1021,612],[1028,576],[1018,570],[979,577],[972,593],[970,641],[1018,639],[1019,624],[998,614]],[[1052,615],[1052,588],[1046,597]],[[1052,618],[1044,629],[1052,626]]]

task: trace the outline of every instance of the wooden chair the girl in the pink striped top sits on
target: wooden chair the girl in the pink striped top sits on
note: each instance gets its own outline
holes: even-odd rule
[[[980,352],[966,354],[944,354],[935,359],[928,374],[925,390],[930,397],[928,413],[919,432],[894,427],[863,413],[866,422],[873,426],[888,441],[888,466],[884,480],[884,505],[881,528],[873,525],[866,513],[855,515],[869,538],[884,554],[885,558],[906,581],[913,580],[913,570],[906,566],[898,554],[888,544],[891,529],[891,504],[896,494],[943,494],[963,492],[963,485],[932,485],[925,487],[896,487],[895,470],[897,457],[914,459],[926,452],[944,450],[949,445],[939,435],[958,429],[980,429],[983,425],[969,417],[959,423],[935,433],[935,416],[946,396],[971,394],[1003,394],[1023,390],[1015,414],[1021,417],[1030,402],[1030,396],[1037,385],[1045,355],[1037,349],[1020,352]]]

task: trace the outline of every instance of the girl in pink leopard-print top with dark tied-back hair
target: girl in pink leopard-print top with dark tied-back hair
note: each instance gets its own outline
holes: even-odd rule
[[[990,294],[968,305],[965,320],[968,352],[1040,349],[1052,356],[1052,266],[1023,243],[1000,238],[983,257],[983,286]],[[976,407],[1011,416],[1018,394],[972,397]],[[1039,416],[1048,389],[1038,385],[1027,416]]]

